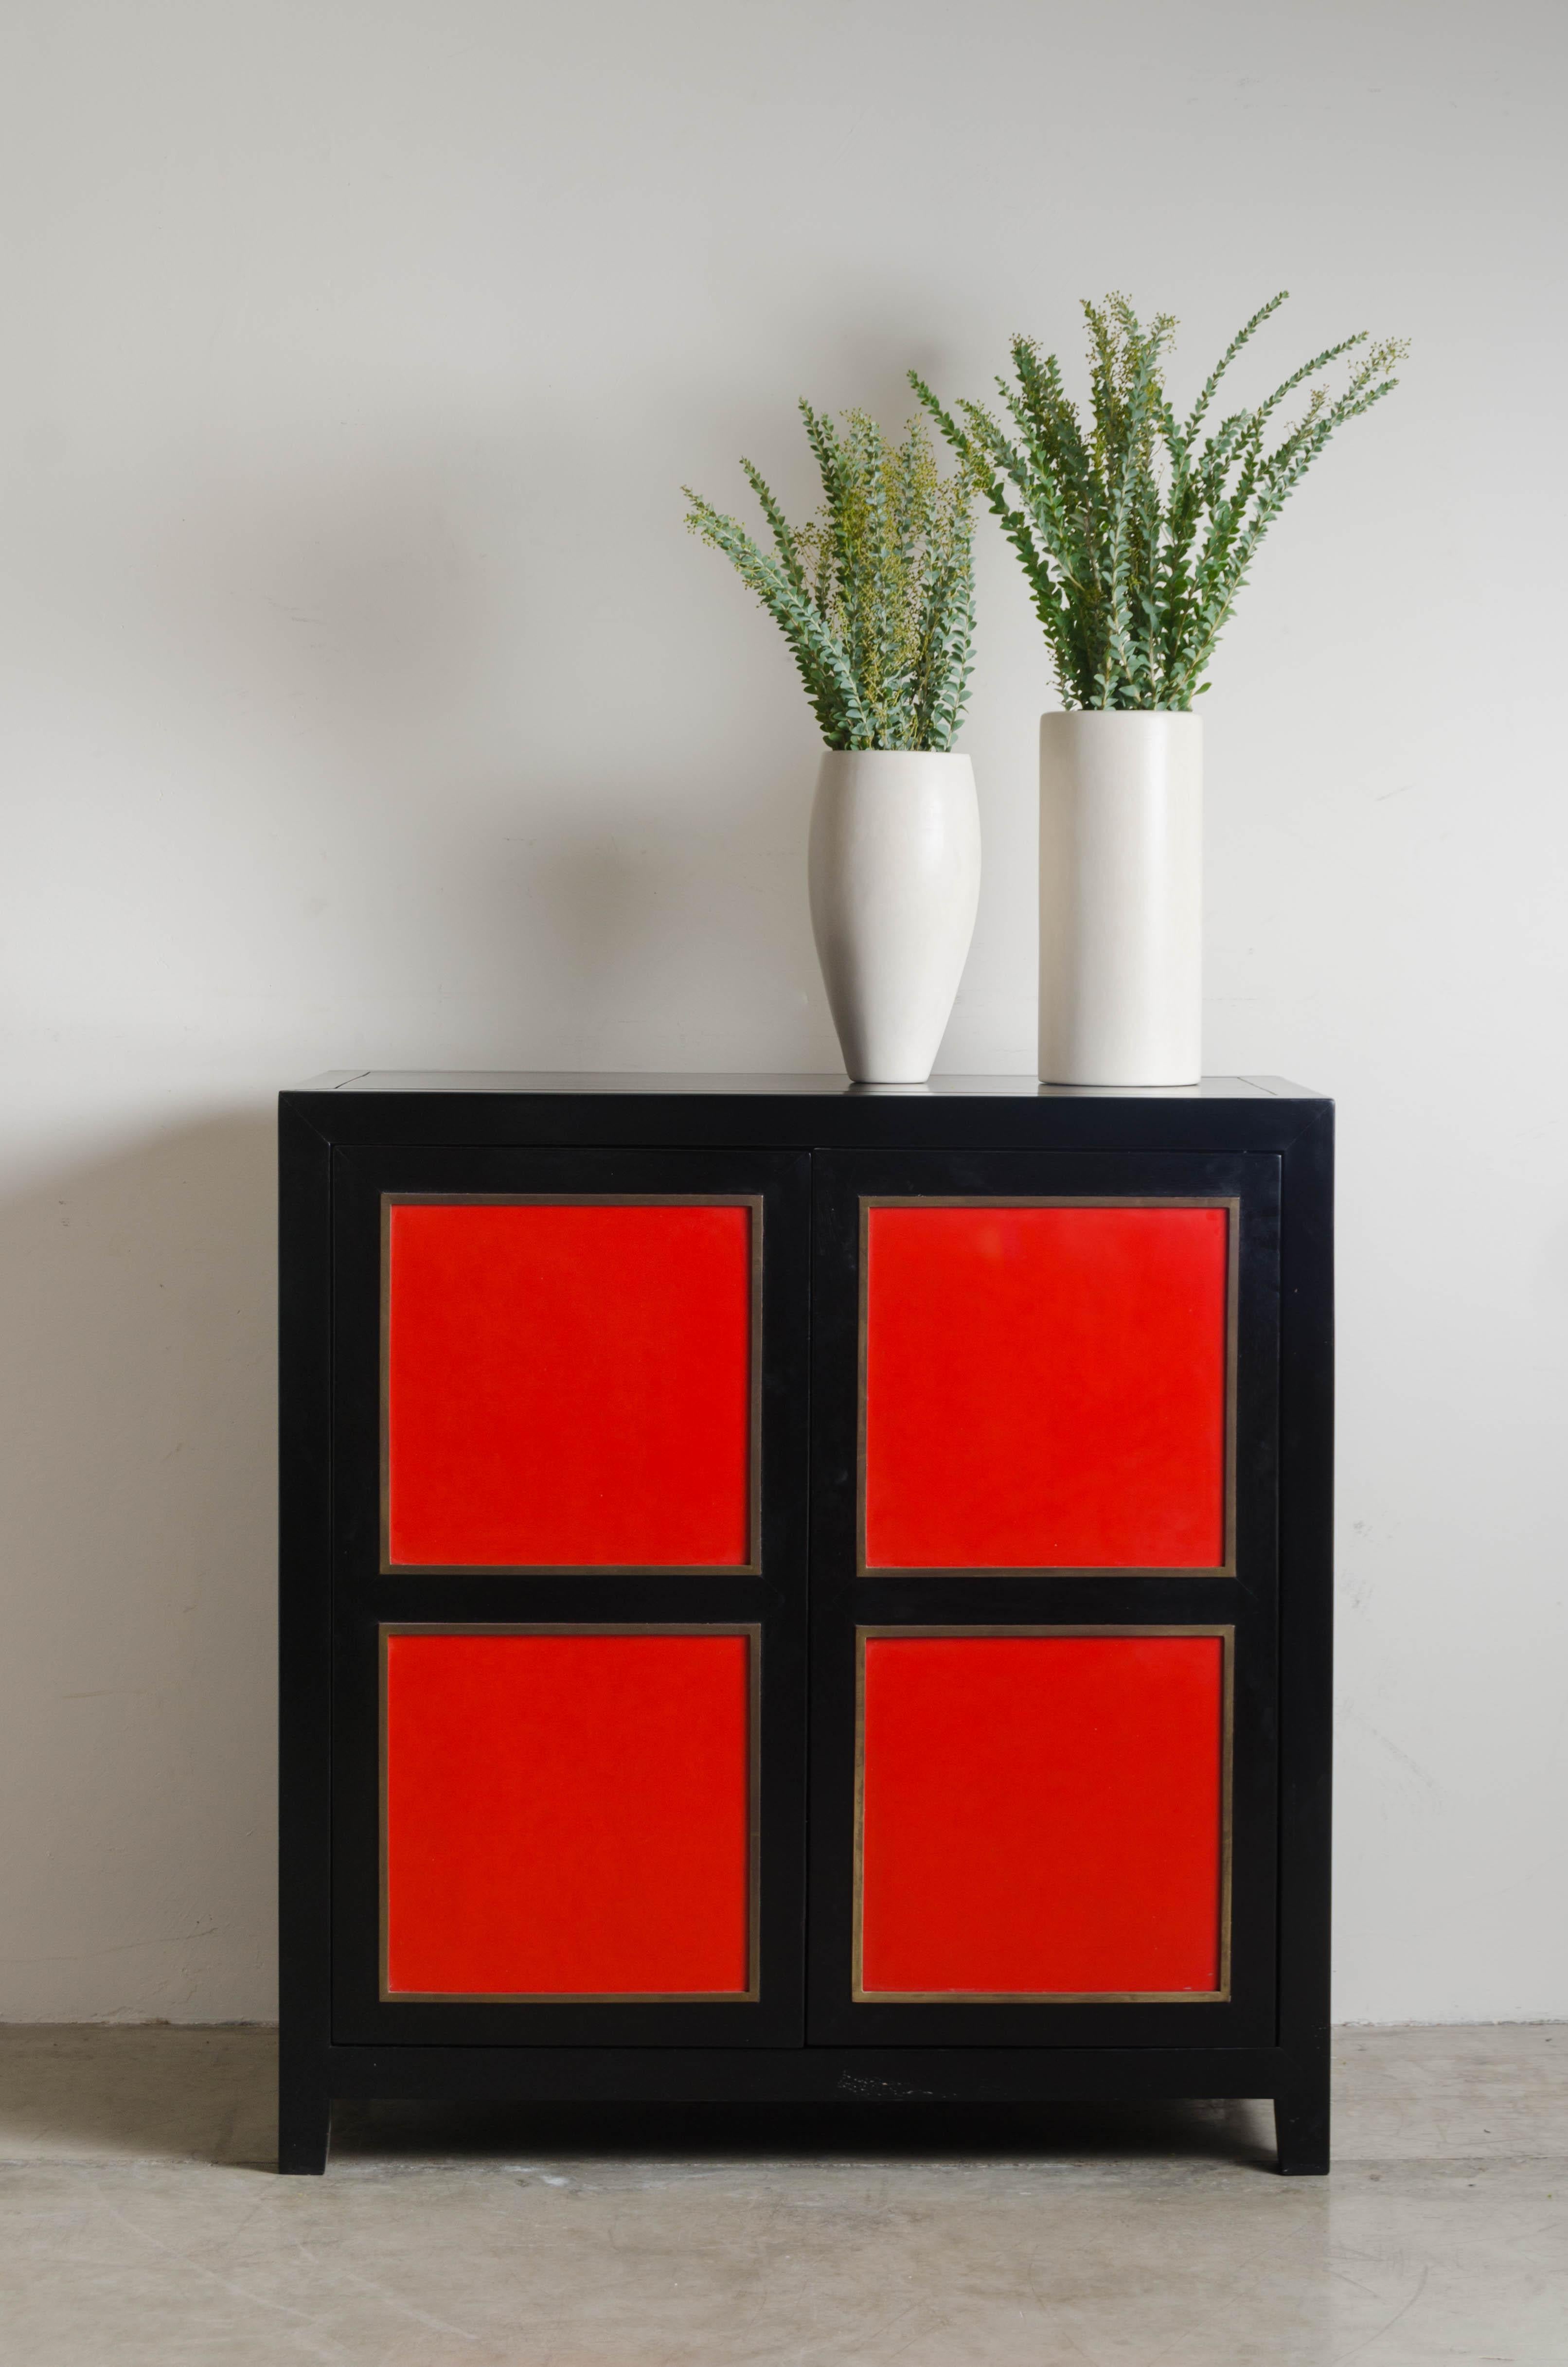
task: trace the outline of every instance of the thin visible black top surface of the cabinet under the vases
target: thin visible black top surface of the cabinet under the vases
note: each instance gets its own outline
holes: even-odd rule
[[[1201,1084],[1104,1086],[1040,1084],[1035,1077],[931,1077],[928,1084],[850,1084],[843,1075],[725,1075],[706,1070],[495,1070],[495,1068],[365,1068],[327,1070],[294,1086],[298,1094],[644,1094],[715,1096],[767,1094],[815,1101],[1326,1101],[1326,1094],[1286,1077],[1203,1077]]]

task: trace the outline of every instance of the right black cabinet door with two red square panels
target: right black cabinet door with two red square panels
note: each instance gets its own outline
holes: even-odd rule
[[[1274,2036],[1279,1160],[820,1153],[817,2043]]]

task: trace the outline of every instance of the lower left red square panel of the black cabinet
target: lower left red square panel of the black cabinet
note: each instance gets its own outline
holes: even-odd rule
[[[748,1652],[388,1636],[388,1993],[746,1993]]]

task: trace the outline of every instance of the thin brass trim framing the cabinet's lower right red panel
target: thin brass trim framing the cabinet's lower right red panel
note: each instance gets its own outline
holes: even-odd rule
[[[865,1647],[874,1638],[921,1636],[1215,1636],[1222,1645],[1220,1673],[1220,1986],[1217,1988],[865,1988],[862,1974],[862,1882],[865,1882]],[[1033,1626],[1021,1621],[985,1621],[981,1626],[857,1626],[855,1628],[855,1868],[850,1915],[850,2002],[853,2005],[1229,2005],[1232,2002],[1232,1775],[1236,1711],[1236,1628],[1229,1624],[1196,1626]]]

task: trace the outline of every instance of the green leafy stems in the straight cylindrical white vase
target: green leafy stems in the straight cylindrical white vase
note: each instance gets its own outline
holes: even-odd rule
[[[997,379],[1011,436],[981,402],[945,412],[910,372],[1023,561],[1063,705],[1189,708],[1208,689],[1215,641],[1284,502],[1334,431],[1397,386],[1393,367],[1409,348],[1397,338],[1371,346],[1362,331],[1199,443],[1220,379],[1284,301],[1274,296],[1229,341],[1187,419],[1170,407],[1161,367],[1175,320],[1156,312],[1144,324],[1125,296],[1082,308],[1087,421],[1056,355],[1028,336],[1011,341],[1016,383]],[[1270,447],[1279,405],[1357,348],[1341,393],[1312,386],[1303,417]]]

